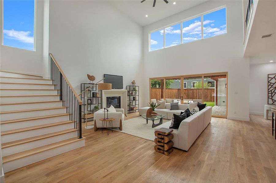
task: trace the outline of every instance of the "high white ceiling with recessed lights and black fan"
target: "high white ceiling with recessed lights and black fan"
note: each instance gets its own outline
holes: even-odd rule
[[[152,7],[153,0],[146,0],[142,3],[141,1],[142,0],[109,0],[107,2],[139,25],[146,26],[202,4],[207,0],[168,0],[168,4],[163,0],[157,0],[155,7]],[[176,4],[174,5],[173,2],[176,2]],[[148,15],[148,17],[146,17],[146,15]]]

